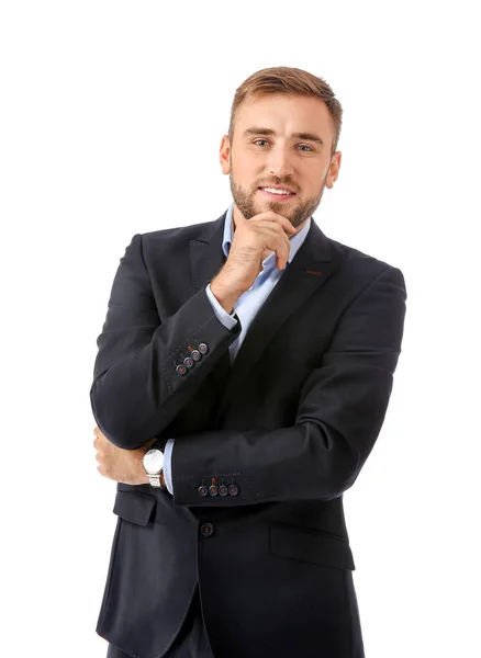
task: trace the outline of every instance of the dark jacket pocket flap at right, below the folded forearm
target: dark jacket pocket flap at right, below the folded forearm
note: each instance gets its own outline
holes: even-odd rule
[[[272,555],[325,567],[354,570],[350,546],[346,540],[306,527],[269,525]]]

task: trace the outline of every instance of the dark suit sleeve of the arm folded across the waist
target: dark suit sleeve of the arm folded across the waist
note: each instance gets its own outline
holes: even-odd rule
[[[177,506],[228,507],[331,500],[353,486],[381,430],[401,352],[405,285],[388,266],[339,319],[318,367],[301,390],[295,423],[277,430],[178,438]],[[200,497],[201,484],[238,486],[237,496]]]

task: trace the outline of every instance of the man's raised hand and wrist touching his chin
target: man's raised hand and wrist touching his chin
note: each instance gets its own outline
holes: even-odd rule
[[[213,295],[228,313],[256,281],[266,251],[276,252],[276,266],[286,269],[291,249],[289,236],[295,232],[297,229],[287,217],[271,211],[250,219],[242,216],[236,219],[228,258],[211,283]]]

